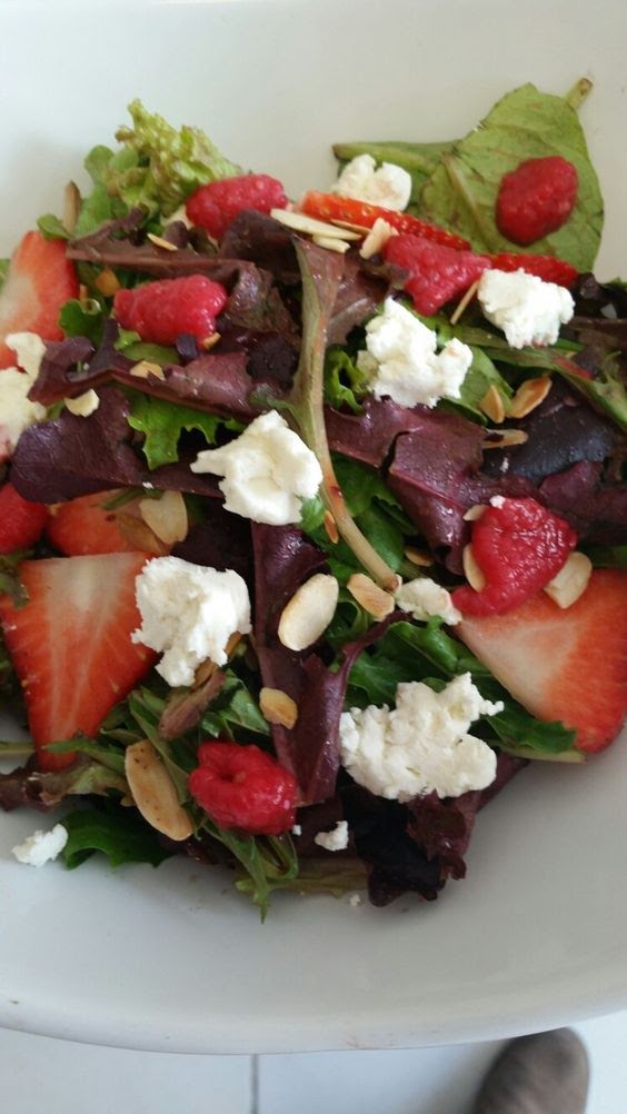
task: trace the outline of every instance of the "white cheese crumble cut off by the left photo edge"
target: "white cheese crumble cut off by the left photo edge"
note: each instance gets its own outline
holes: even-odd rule
[[[13,455],[25,429],[46,418],[46,408],[28,398],[46,344],[37,333],[10,333],[6,343],[23,370],[16,367],[0,371],[0,462]]]

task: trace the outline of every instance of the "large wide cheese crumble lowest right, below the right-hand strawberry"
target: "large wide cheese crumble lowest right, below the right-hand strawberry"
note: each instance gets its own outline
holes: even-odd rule
[[[470,673],[454,677],[440,693],[421,681],[400,684],[392,711],[371,704],[342,714],[342,764],[360,785],[390,800],[486,789],[494,780],[497,758],[468,730],[480,715],[502,709],[500,702],[483,700]]]

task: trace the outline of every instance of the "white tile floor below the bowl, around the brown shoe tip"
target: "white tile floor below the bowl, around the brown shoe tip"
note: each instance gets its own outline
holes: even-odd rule
[[[626,1114],[627,1012],[577,1029],[591,1061],[587,1114]],[[0,1108],[8,1114],[468,1114],[498,1047],[167,1056],[2,1029]]]

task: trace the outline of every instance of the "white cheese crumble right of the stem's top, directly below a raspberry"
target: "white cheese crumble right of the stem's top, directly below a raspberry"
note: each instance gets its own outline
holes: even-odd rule
[[[442,398],[459,399],[472,363],[468,344],[453,339],[437,352],[438,336],[392,297],[383,313],[365,326],[368,351],[357,353],[357,367],[370,375],[370,390],[389,395],[402,407],[434,407]]]

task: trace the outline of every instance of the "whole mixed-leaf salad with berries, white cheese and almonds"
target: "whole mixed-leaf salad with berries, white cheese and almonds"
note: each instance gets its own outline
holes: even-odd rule
[[[134,101],[2,264],[0,804],[51,813],[17,858],[432,900],[525,766],[620,733],[589,88],[337,144],[293,199]]]

